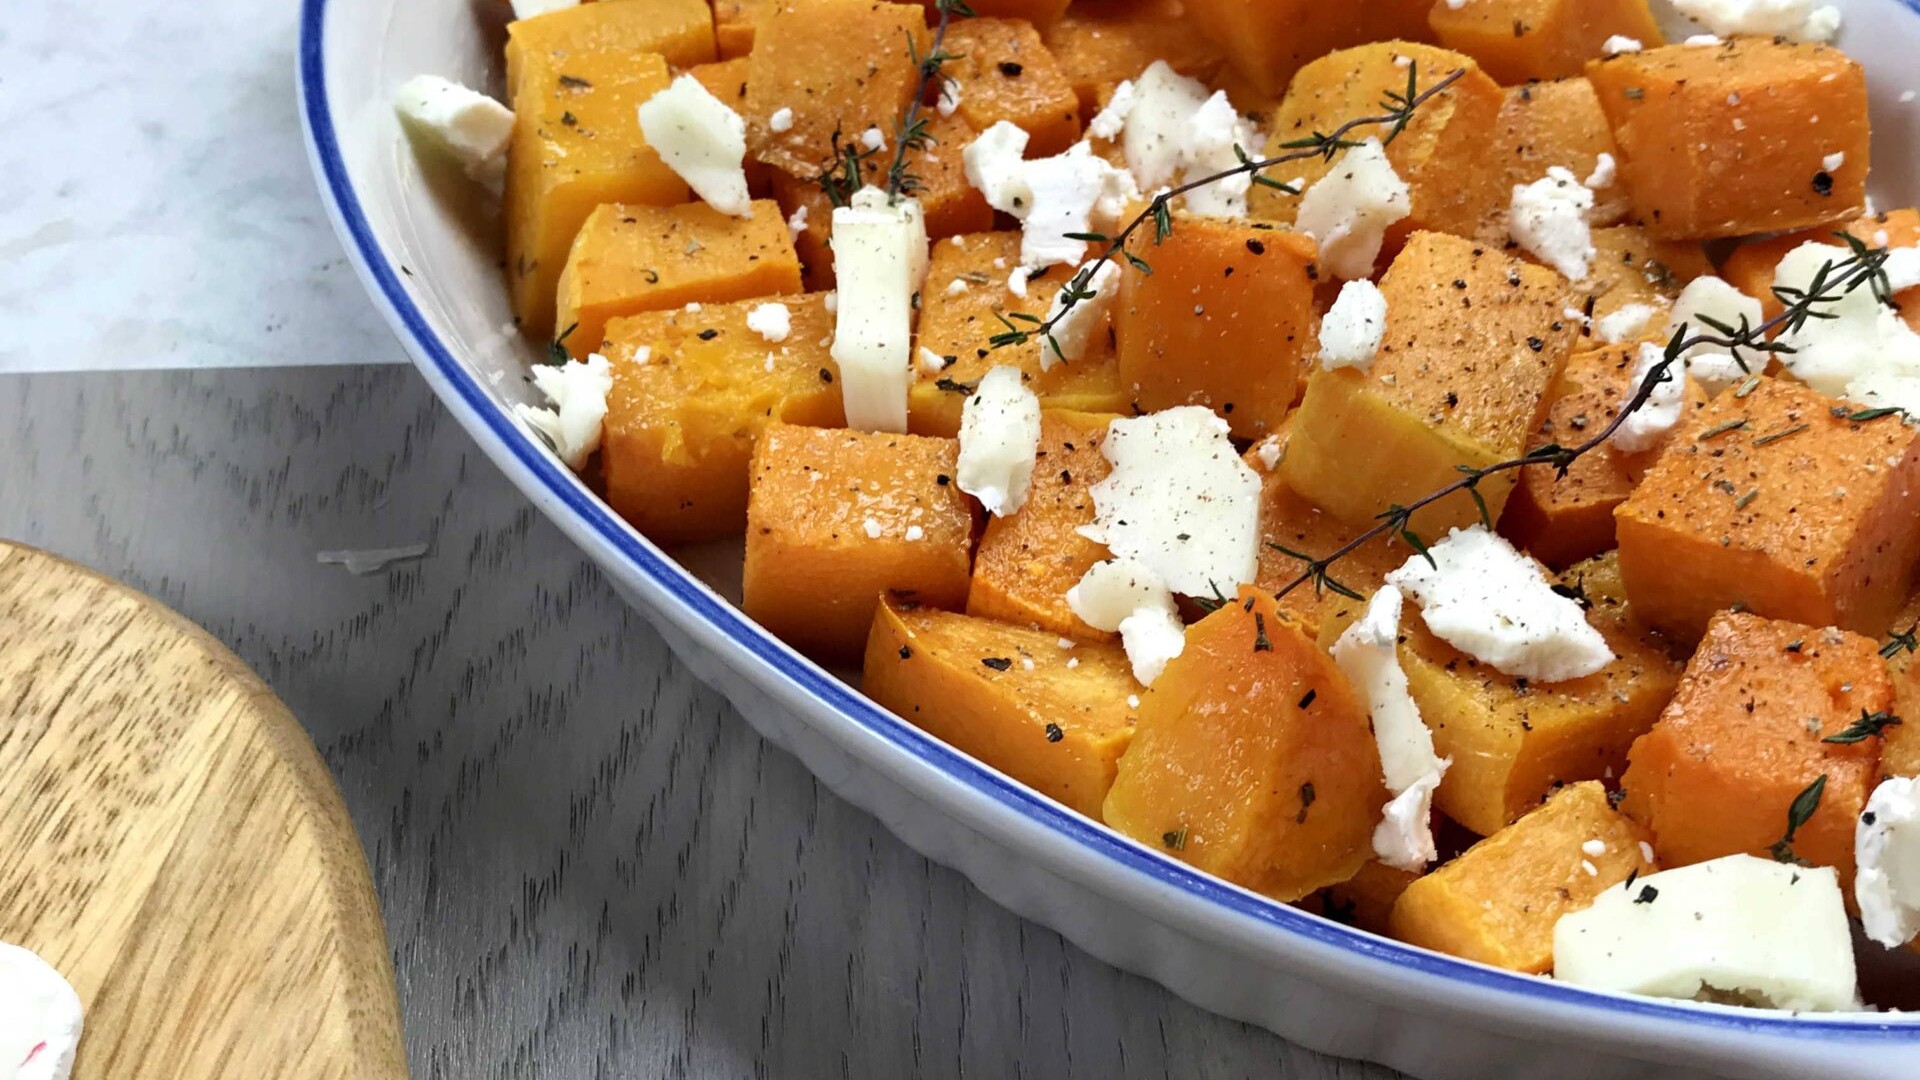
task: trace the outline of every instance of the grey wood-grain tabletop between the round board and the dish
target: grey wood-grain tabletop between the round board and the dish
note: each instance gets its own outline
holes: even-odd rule
[[[200,621],[313,732],[419,1080],[1394,1076],[1106,967],[824,792],[413,371],[0,388],[0,536]]]

